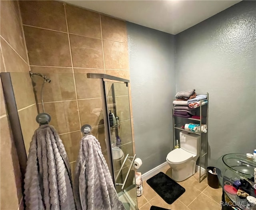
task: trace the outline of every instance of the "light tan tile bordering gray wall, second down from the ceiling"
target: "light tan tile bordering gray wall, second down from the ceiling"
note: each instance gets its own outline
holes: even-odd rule
[[[105,66],[110,69],[129,69],[128,45],[103,40]]]

